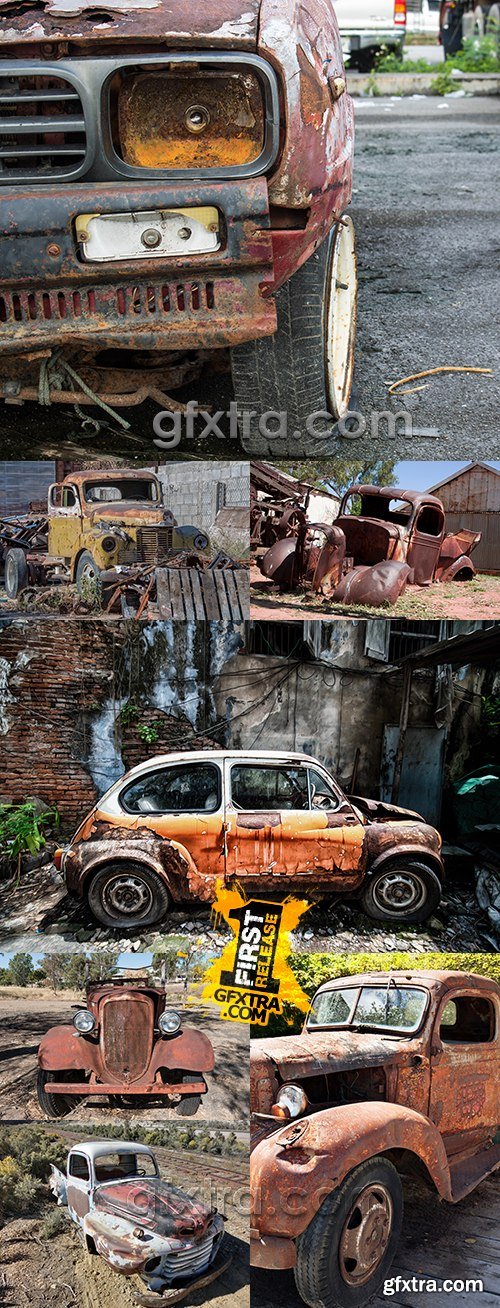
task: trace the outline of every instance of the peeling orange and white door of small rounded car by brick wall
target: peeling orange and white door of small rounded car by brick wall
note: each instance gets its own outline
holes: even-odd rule
[[[247,889],[344,886],[364,828],[339,795],[331,794],[329,808],[314,803],[309,773],[306,763],[292,760],[226,761],[226,875]],[[322,785],[326,790],[323,776]]]

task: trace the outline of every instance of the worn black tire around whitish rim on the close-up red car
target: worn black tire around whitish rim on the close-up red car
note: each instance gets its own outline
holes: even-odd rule
[[[344,258],[349,241],[353,243],[351,220],[346,220],[346,224],[336,224],[319,249],[276,293],[276,334],[232,349],[233,387],[238,408],[255,411],[247,428],[240,424],[241,441],[249,454],[272,454],[280,458],[293,453],[293,458],[302,458],[335,453],[336,417],[347,412],[351,394],[356,330],[355,273],[346,285],[336,276],[335,260]],[[335,402],[327,356],[330,288],[334,283],[340,288],[339,293],[348,294],[352,307],[352,314],[351,310],[346,314],[349,328],[343,335],[338,332],[331,336],[332,341],[349,341],[346,370],[338,369],[338,374],[344,375],[344,399]],[[349,298],[351,290],[353,301]],[[339,323],[340,319],[342,315],[338,314],[335,320]],[[262,434],[259,419],[270,412],[287,415],[287,436],[274,438]],[[332,420],[317,419],[317,434],[312,434],[306,429],[306,420],[319,412],[331,413]]]

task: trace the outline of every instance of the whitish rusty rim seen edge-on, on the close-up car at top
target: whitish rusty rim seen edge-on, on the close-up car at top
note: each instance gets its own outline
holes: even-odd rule
[[[338,225],[330,259],[325,315],[326,394],[331,416],[348,411],[356,335],[356,251],[352,218]]]

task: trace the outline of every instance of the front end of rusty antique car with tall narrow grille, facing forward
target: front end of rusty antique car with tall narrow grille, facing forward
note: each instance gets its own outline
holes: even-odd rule
[[[212,1044],[166,1007],[165,989],[144,981],[89,985],[72,1025],[51,1027],[38,1048],[39,1099],[51,1116],[73,1096],[149,1096],[196,1107],[213,1071]],[[54,1112],[51,1112],[54,1108]]]

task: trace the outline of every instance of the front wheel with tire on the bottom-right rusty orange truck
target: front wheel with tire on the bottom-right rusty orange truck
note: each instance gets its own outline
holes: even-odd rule
[[[385,1281],[403,1223],[403,1190],[385,1158],[346,1177],[297,1240],[295,1281],[310,1308],[363,1308]]]

